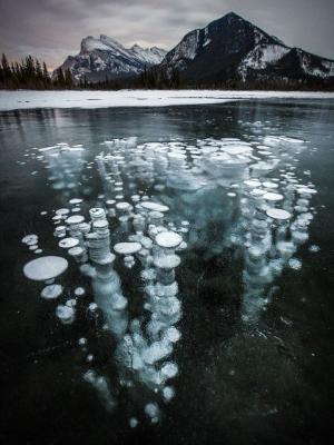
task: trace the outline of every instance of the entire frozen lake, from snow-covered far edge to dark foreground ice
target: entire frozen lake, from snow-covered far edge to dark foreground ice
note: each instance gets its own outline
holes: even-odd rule
[[[324,443],[331,95],[0,109],[2,442]]]

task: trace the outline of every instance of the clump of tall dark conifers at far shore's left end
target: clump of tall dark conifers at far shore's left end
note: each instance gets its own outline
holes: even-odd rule
[[[0,89],[68,89],[73,88],[75,82],[70,70],[59,70],[56,79],[49,75],[46,62],[40,62],[31,56],[20,62],[9,63],[6,55],[0,62]]]

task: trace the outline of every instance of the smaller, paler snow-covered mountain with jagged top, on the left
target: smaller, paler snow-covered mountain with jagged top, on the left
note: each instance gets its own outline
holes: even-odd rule
[[[53,71],[61,68],[69,69],[72,77],[78,80],[99,81],[124,78],[139,75],[145,67],[151,67],[161,62],[167,51],[161,48],[141,48],[134,44],[125,48],[110,37],[101,34],[99,39],[91,36],[81,41],[80,52],[77,56],[68,56],[65,62]]]

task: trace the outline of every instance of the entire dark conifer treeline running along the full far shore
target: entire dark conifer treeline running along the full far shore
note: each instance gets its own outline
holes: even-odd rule
[[[291,79],[286,77],[262,76],[248,79],[247,82],[237,79],[205,79],[191,81],[183,78],[177,69],[151,67],[139,76],[121,79],[104,79],[79,81],[72,78],[69,69],[58,69],[50,76],[45,62],[26,57],[20,62],[9,63],[6,55],[0,61],[0,89],[88,89],[88,90],[120,90],[120,89],[220,89],[220,90],[334,90],[334,80],[305,77]]]

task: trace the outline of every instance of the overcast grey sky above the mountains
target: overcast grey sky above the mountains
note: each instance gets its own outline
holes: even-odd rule
[[[288,46],[334,59],[334,0],[0,0],[0,51],[31,53],[49,68],[86,36],[171,49],[183,36],[234,11]]]

